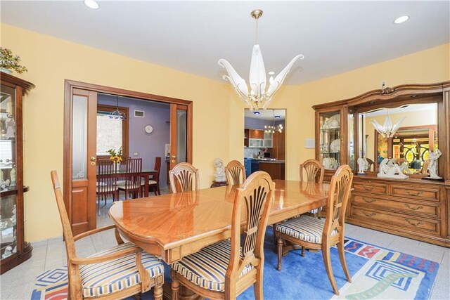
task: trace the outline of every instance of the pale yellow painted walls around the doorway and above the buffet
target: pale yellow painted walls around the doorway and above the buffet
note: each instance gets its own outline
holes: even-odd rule
[[[114,86],[193,101],[193,164],[203,188],[214,178],[215,157],[243,162],[244,105],[226,82],[1,24],[1,45],[18,53],[37,87],[25,100],[25,235],[28,241],[61,235],[49,172],[63,171],[64,79]],[[302,86],[284,86],[269,108],[285,108],[286,173],[298,179],[298,165],[314,157],[304,139],[314,137],[311,106],[387,86],[450,79],[450,44],[430,48]],[[249,62],[250,63],[250,62]]]

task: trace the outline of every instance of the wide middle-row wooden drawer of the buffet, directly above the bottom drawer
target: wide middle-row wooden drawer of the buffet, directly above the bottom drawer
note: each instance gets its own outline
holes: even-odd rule
[[[405,201],[406,200],[406,201]],[[352,205],[373,206],[381,209],[392,209],[403,214],[426,215],[439,219],[439,206],[433,203],[413,203],[408,199],[386,200],[367,195],[352,195]]]

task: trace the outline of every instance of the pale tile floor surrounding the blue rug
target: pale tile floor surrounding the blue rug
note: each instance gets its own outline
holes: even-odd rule
[[[167,193],[167,190],[164,191]],[[162,193],[164,193],[162,191]],[[112,202],[101,208],[98,226],[110,224],[107,211]],[[347,224],[346,234],[381,247],[405,252],[439,263],[439,271],[432,288],[431,299],[450,299],[450,249],[425,242],[398,237],[388,233]],[[79,256],[87,256],[115,245],[112,230],[86,237],[76,242]],[[0,276],[0,299],[30,299],[34,279],[44,270],[66,265],[65,245],[62,237],[32,243],[32,258]]]

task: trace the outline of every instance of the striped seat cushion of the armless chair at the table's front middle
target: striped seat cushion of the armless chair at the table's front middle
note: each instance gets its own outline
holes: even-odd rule
[[[184,257],[181,261],[172,264],[172,269],[199,287],[224,292],[225,273],[230,261],[230,253],[231,242],[224,240]],[[245,266],[240,277],[250,272],[252,268],[252,265]]]

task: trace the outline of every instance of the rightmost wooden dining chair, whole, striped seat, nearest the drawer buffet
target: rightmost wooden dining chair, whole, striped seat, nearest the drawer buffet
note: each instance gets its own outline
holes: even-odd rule
[[[337,245],[345,277],[347,277],[348,282],[352,282],[344,252],[345,209],[347,208],[352,181],[352,169],[347,164],[342,164],[331,177],[325,220],[302,215],[276,225],[278,270],[281,270],[281,260],[283,254],[285,254],[284,248],[292,248],[288,243],[298,244],[309,249],[322,250],[323,263],[325,264],[328,279],[335,294],[339,295],[330,259],[330,248]]]

